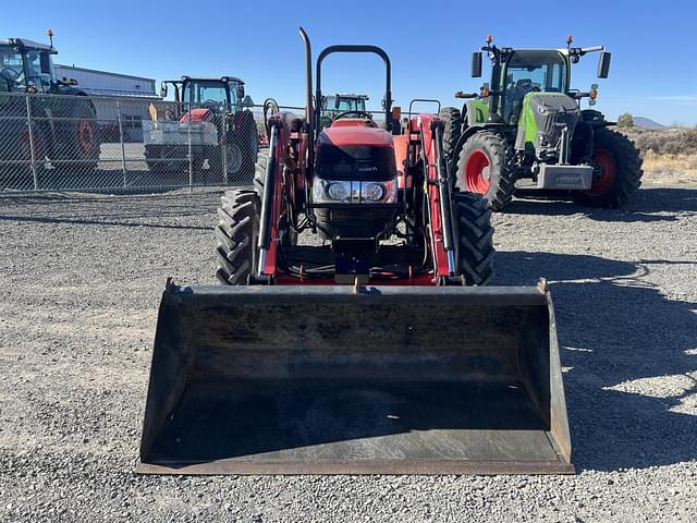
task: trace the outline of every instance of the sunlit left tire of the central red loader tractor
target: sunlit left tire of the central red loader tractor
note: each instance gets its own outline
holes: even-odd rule
[[[223,285],[246,285],[257,260],[261,202],[256,191],[228,191],[218,209],[216,278]]]

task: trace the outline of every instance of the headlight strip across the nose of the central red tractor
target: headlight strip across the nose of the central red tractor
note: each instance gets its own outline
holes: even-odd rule
[[[313,200],[316,204],[394,204],[396,181],[343,182],[315,179]]]

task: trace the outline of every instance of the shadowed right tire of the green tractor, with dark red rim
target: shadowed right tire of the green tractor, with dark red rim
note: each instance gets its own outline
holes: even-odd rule
[[[625,135],[607,129],[596,131],[594,163],[600,174],[594,175],[589,191],[575,192],[574,199],[588,207],[622,207],[641,185],[641,162],[634,142]]]

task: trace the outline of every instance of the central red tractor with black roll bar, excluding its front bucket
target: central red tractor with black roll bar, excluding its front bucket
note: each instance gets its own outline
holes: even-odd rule
[[[360,110],[332,115],[308,93],[306,120],[269,119],[268,161],[257,166],[255,190],[223,197],[218,236],[222,283],[377,283],[482,285],[493,273],[493,229],[486,202],[452,192],[442,154],[443,123],[411,119],[403,134],[392,110],[391,65],[375,46],[332,46],[335,52],[378,54],[387,69],[384,124]],[[308,77],[308,84],[310,83]],[[325,246],[297,245],[303,231]]]

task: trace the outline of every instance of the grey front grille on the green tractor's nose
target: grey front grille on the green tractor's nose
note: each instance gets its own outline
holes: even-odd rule
[[[535,96],[530,109],[537,123],[535,149],[538,157],[559,156],[559,142],[564,127],[568,129],[568,139],[573,137],[579,110],[576,102],[566,95]]]

